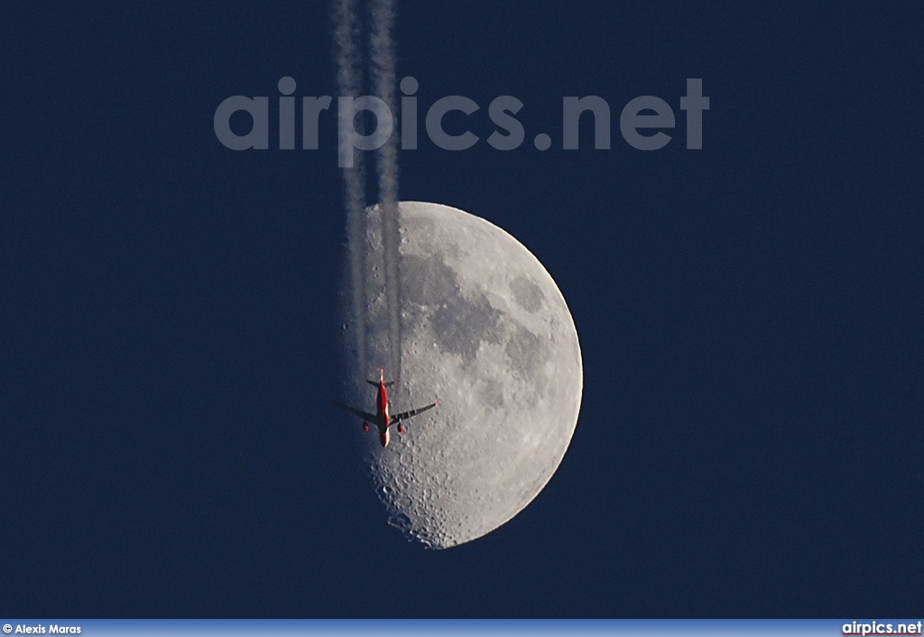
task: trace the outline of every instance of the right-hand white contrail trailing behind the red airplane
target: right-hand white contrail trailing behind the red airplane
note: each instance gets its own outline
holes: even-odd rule
[[[395,22],[394,0],[373,0],[371,6],[372,30],[370,36],[372,81],[376,95],[397,113],[395,102],[395,44],[392,26]],[[392,135],[379,148],[376,156],[376,173],[379,178],[379,203],[382,214],[382,251],[385,276],[385,295],[388,307],[388,340],[390,364],[395,381],[401,378],[401,281],[399,276],[398,243],[398,163],[397,118]]]

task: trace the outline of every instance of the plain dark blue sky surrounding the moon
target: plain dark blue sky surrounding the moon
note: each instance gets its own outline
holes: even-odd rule
[[[402,2],[400,196],[504,227],[574,314],[585,391],[541,495],[408,545],[326,399],[344,237],[318,151],[233,152],[226,97],[334,95],[328,6],[19,3],[0,114],[0,608],[36,617],[919,612],[924,13]],[[701,78],[703,149],[679,100]],[[442,151],[447,118],[481,141]],[[527,141],[500,152],[513,95]],[[562,150],[599,95],[612,148]],[[640,152],[618,116],[675,110]],[[300,130],[300,129],[299,129]],[[540,152],[531,140],[552,136]],[[299,133],[300,134],[300,133]]]

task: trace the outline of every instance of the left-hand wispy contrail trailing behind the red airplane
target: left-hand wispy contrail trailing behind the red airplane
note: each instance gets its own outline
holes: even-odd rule
[[[337,65],[337,90],[341,96],[358,97],[362,88],[362,67],[354,36],[359,28],[358,0],[334,0],[334,46]],[[346,135],[342,127],[339,135]],[[361,131],[360,131],[360,134]],[[341,147],[345,140],[338,140]],[[351,152],[353,152],[351,150]],[[366,374],[366,178],[362,153],[354,153],[352,167],[344,167],[346,188],[346,233],[349,253],[350,291],[355,323],[357,365]]]

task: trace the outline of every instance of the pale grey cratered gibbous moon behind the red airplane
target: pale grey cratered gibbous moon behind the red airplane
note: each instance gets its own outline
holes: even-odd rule
[[[439,399],[388,447],[363,440],[389,523],[448,548],[510,521],[552,478],[577,425],[580,347],[561,291],[517,239],[446,205],[397,208],[397,333],[378,206],[351,238],[362,250],[347,246],[344,398],[374,412],[365,380],[384,367],[399,374],[393,413]]]

